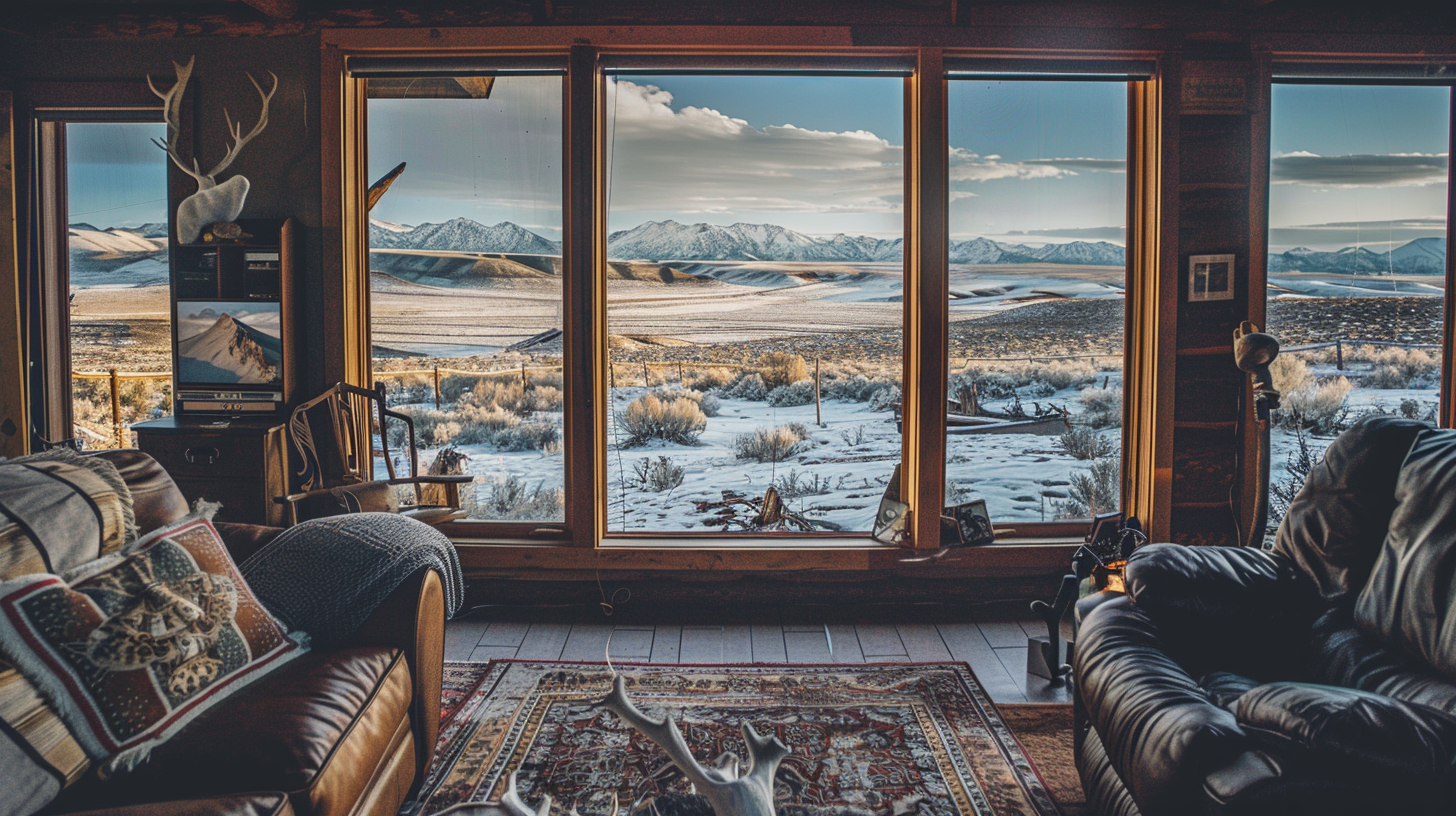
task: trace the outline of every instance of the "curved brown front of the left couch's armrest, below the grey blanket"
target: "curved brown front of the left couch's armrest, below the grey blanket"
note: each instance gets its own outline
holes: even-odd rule
[[[405,653],[415,699],[409,718],[415,731],[415,788],[435,755],[440,736],[440,689],[446,656],[446,590],[440,573],[421,567],[400,583],[364,621],[347,646],[389,646]]]

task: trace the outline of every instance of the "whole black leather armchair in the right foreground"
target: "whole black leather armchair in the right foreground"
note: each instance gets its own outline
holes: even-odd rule
[[[1089,806],[1450,813],[1453,574],[1456,431],[1395,418],[1335,440],[1273,552],[1139,549],[1077,632]]]

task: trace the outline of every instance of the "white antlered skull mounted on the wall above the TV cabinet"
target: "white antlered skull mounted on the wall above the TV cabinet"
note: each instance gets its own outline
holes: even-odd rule
[[[262,98],[262,112],[258,115],[258,124],[253,125],[250,131],[243,133],[242,122],[233,122],[233,117],[229,115],[227,108],[223,108],[223,118],[227,119],[227,131],[233,137],[233,144],[229,146],[227,153],[223,160],[218,162],[211,170],[202,172],[197,163],[197,157],[192,157],[192,165],[188,166],[182,160],[178,152],[178,138],[182,134],[182,95],[186,92],[186,83],[192,77],[192,66],[197,63],[197,57],[188,60],[186,66],[172,63],[178,71],[178,82],[167,92],[157,90],[156,83],[151,77],[147,77],[147,86],[156,93],[163,103],[165,118],[167,122],[167,141],[153,140],[153,143],[166,150],[172,163],[178,166],[183,173],[192,176],[197,181],[197,192],[189,195],[178,205],[178,240],[181,243],[192,243],[197,240],[202,227],[215,221],[232,221],[236,220],[243,211],[243,201],[248,198],[248,179],[243,176],[233,176],[221,184],[217,182],[217,175],[221,173],[237,159],[237,154],[243,150],[243,146],[253,140],[258,134],[268,127],[268,103],[272,102],[274,93],[278,92],[278,74],[268,71],[272,76],[272,89],[264,92],[264,87],[258,85],[253,74],[248,74],[248,80],[253,83],[258,89],[258,96]]]

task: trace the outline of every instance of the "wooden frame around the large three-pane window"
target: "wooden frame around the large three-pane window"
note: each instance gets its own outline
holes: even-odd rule
[[[906,77],[906,342],[904,382],[919,382],[917,389],[906,389],[906,423],[903,430],[904,498],[911,506],[910,545],[920,549],[939,546],[939,507],[945,481],[945,377],[920,377],[922,372],[943,372],[946,364],[948,331],[948,131],[946,77],[943,60],[949,54],[1026,57],[1029,52],[951,51],[932,47],[855,47],[849,29],[820,28],[748,28],[748,26],[660,26],[646,29],[607,28],[517,28],[517,29],[435,29],[431,32],[370,32],[331,29],[322,36],[320,99],[323,133],[338,133],[336,143],[326,141],[323,154],[323,239],[325,239],[325,313],[326,335],[342,338],[338,348],[331,344],[325,376],[329,380],[368,382],[368,293],[367,275],[360,270],[367,258],[363,220],[363,82],[348,76],[352,57],[510,57],[565,52],[568,58],[566,99],[563,121],[563,364],[568,370],[566,404],[566,525],[565,530],[552,525],[472,522],[460,525],[451,538],[462,545],[462,558],[469,565],[523,570],[579,568],[600,562],[600,558],[626,560],[648,570],[664,568],[722,568],[722,570],[785,570],[796,568],[805,558],[815,564],[842,564],[853,570],[862,560],[856,552],[901,548],[882,545],[866,536],[623,536],[606,532],[606,140],[604,140],[604,73],[607,55],[711,55],[712,58],[795,57],[824,58],[897,58],[914,63]],[[1125,52],[1073,54],[1085,58],[1127,58]],[[1147,52],[1136,57],[1153,58]],[[1147,156],[1160,165],[1166,159],[1160,140],[1166,118],[1159,79],[1134,83],[1155,89],[1147,95],[1144,117],[1159,127],[1149,127],[1144,154],[1134,154],[1130,133],[1128,170],[1130,192],[1137,178],[1139,197],[1128,197],[1128,240],[1134,236],[1153,249],[1128,264],[1128,318],[1131,325],[1153,319],[1152,335],[1171,332],[1162,326],[1159,309],[1166,307],[1168,286],[1165,267],[1174,270],[1166,255],[1174,251],[1158,242],[1166,221],[1160,213],[1166,172],[1143,173],[1140,162]],[[1130,106],[1131,109],[1131,106]],[[1130,112],[1131,115],[1131,112]],[[1150,187],[1149,187],[1150,185]],[[1153,195],[1147,195],[1152,192]],[[1159,210],[1146,216],[1152,207]],[[1134,213],[1136,210],[1136,213]],[[1131,217],[1136,214],[1137,217]],[[1131,254],[1130,254],[1131,256]],[[1175,280],[1175,278],[1174,278]],[[1136,281],[1136,286],[1134,286]],[[1136,290],[1136,299],[1133,296]],[[1176,293],[1176,287],[1172,287]],[[1136,302],[1134,302],[1136,300]],[[1139,321],[1134,323],[1133,321]],[[1149,334],[1149,332],[1144,332]],[[1172,342],[1159,344],[1144,334],[1128,331],[1125,370],[1142,374],[1128,379],[1124,399],[1124,504],[1144,519],[1159,516],[1155,490],[1158,458],[1171,459],[1171,388],[1160,389],[1171,377]],[[1146,358],[1146,360],[1144,360]],[[1150,363],[1149,363],[1150,360]],[[1136,391],[1134,391],[1136,389]],[[1166,391],[1166,395],[1162,392]],[[1162,409],[1144,408],[1140,393],[1156,393]],[[939,398],[938,398],[939,395]],[[1165,427],[1166,425],[1166,427]],[[1171,484],[1171,469],[1163,479],[1163,493]],[[1166,504],[1160,504],[1166,507]],[[920,511],[920,509],[933,509]],[[1166,516],[1166,513],[1162,513]],[[1156,525],[1155,525],[1156,529]],[[1057,558],[1070,554],[1086,530],[1085,523],[1038,525],[1035,538],[997,542],[981,551],[957,554],[968,564],[1000,562],[1013,552],[1025,552],[1026,562],[1037,562],[1048,545],[1057,545]],[[590,551],[596,561],[566,555],[562,548]],[[1041,551],[1042,555],[1032,555]],[[469,557],[466,554],[470,554]],[[594,554],[594,555],[593,555]],[[610,555],[607,555],[610,554]],[[869,557],[875,561],[878,557]],[[1018,557],[1012,557],[1015,561]],[[869,564],[866,561],[866,564]],[[878,562],[878,561],[875,561]],[[868,567],[866,567],[868,568]]]

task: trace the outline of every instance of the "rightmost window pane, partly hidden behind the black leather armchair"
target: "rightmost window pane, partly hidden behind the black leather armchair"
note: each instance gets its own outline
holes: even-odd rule
[[[1275,85],[1268,326],[1283,344],[1270,532],[1361,417],[1436,424],[1450,89]]]

